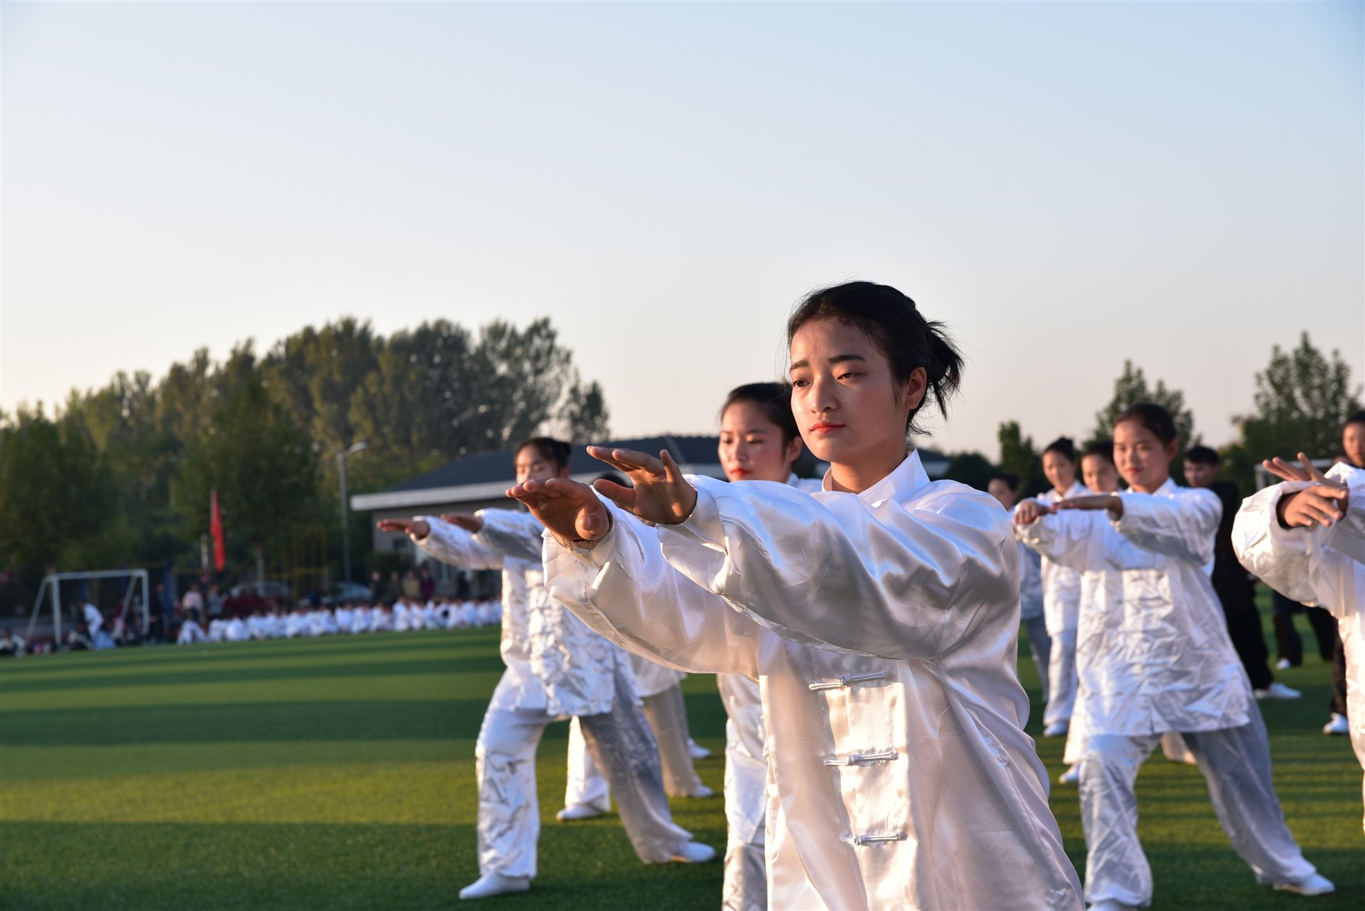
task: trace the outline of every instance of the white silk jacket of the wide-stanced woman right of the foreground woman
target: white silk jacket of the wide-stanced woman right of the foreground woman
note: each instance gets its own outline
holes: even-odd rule
[[[1087,734],[1216,731],[1250,721],[1252,687],[1204,571],[1223,513],[1167,479],[1123,491],[1123,516],[1044,516],[1020,529],[1082,570],[1077,712]],[[1088,570],[1088,571],[1087,571]]]

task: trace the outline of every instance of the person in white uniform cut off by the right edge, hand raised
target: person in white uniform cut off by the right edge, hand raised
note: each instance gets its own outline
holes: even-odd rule
[[[1365,428],[1365,412],[1357,416]],[[1334,465],[1324,476],[1265,462],[1286,479],[1242,502],[1233,547],[1248,570],[1276,592],[1321,604],[1336,618],[1346,652],[1346,713],[1351,746],[1365,768],[1365,471]]]

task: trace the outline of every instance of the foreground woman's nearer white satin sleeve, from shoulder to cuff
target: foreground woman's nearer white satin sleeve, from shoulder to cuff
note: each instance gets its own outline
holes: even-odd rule
[[[930,657],[1018,618],[1018,551],[994,498],[940,483],[913,507],[785,484],[689,477],[696,509],[663,555],[778,636],[885,659]]]

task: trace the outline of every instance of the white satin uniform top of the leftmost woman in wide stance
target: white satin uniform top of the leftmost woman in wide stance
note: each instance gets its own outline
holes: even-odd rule
[[[539,520],[509,509],[479,511],[478,535],[433,516],[416,544],[435,559],[470,569],[502,570],[502,663],[490,708],[569,715],[612,711],[613,668],[625,656],[573,614],[550,600],[541,565]],[[627,670],[628,672],[628,670]]]

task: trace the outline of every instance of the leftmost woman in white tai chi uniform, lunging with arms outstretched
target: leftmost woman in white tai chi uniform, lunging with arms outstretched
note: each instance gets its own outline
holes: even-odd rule
[[[517,480],[568,477],[566,443],[524,442]],[[427,554],[471,569],[502,570],[502,661],[506,670],[489,702],[475,746],[479,781],[479,880],[461,899],[523,892],[535,877],[541,816],[535,753],[545,726],[577,716],[588,749],[616,792],[621,824],[646,863],[703,862],[708,846],[673,824],[658,747],[635,698],[625,655],[545,591],[539,522],[505,509],[470,517],[471,532],[435,517],[385,520]]]

